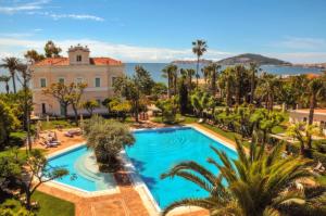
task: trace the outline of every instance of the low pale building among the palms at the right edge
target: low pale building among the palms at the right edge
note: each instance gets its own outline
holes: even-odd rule
[[[309,109],[290,111],[290,123],[308,122]],[[315,109],[313,122],[321,127],[326,135],[326,109]]]

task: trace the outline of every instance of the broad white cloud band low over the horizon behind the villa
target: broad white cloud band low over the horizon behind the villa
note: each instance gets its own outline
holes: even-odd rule
[[[0,38],[0,50],[10,52],[15,56],[23,56],[28,49],[36,49],[42,52],[46,40],[28,40],[18,38]],[[106,41],[79,39],[79,40],[55,40],[54,41],[63,51],[71,46],[80,43],[88,46],[92,56],[112,56],[124,62],[171,62],[173,60],[193,60],[195,55],[191,49],[170,49],[138,47],[129,45],[115,45]],[[62,54],[66,54],[63,52]],[[221,60],[233,55],[228,52],[210,49],[205,59]],[[1,58],[1,56],[0,56]]]

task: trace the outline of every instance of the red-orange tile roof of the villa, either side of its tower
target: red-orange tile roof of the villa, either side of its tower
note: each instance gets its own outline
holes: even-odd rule
[[[121,65],[122,62],[117,60],[113,60],[111,58],[89,58],[89,63],[92,65]],[[63,66],[70,65],[68,58],[47,58],[42,61],[35,63],[35,66]]]

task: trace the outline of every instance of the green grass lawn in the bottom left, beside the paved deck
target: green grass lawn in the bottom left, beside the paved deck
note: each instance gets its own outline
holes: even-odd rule
[[[75,215],[75,205],[68,201],[64,201],[52,195],[36,191],[32,201],[39,203],[39,208],[35,212],[38,216],[73,216]],[[8,206],[15,213],[22,207],[20,201],[15,199],[7,199],[0,206]]]

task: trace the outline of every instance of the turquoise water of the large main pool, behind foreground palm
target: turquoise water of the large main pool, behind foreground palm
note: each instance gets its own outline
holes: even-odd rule
[[[206,162],[208,157],[218,162],[210,145],[225,151],[230,158],[237,158],[235,151],[192,128],[136,131],[135,137],[136,143],[127,148],[126,153],[161,208],[184,198],[208,195],[192,182],[179,177],[162,180],[160,176],[174,165],[192,160],[217,173]]]

